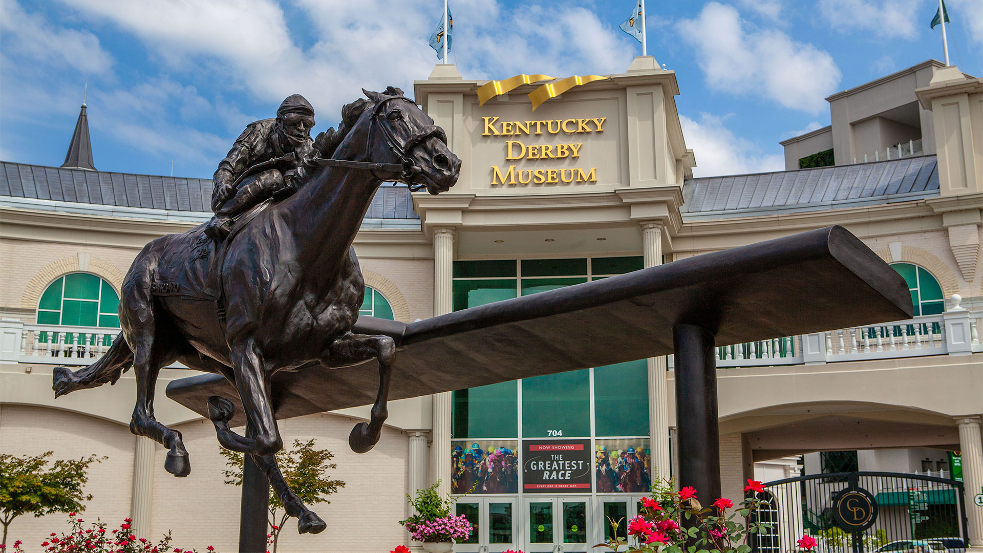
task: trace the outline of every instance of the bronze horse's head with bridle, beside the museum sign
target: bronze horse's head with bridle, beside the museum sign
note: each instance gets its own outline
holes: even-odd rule
[[[383,180],[405,183],[410,190],[427,188],[431,194],[446,192],[461,170],[461,160],[447,148],[447,135],[434,120],[399,89],[385,92],[363,90],[371,100],[360,118],[368,122],[369,155],[372,161],[398,163],[399,174]],[[364,121],[365,118],[369,121]]]

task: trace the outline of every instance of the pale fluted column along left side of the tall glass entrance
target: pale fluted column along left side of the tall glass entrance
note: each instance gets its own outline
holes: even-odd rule
[[[454,310],[451,281],[454,275],[454,229],[434,229],[434,317]],[[434,430],[431,442],[431,466],[434,481],[440,480],[437,493],[450,491],[450,392],[434,394]]]

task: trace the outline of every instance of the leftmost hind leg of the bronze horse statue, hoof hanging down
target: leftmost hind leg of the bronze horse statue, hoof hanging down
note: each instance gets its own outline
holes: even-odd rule
[[[168,448],[170,451],[167,452],[164,468],[175,476],[187,476],[191,473],[191,463],[181,433],[167,428],[153,417],[157,375],[161,367],[177,360],[178,344],[183,338],[161,327],[149,294],[149,285],[136,284],[125,291],[130,293],[127,297],[128,319],[131,319],[128,325],[132,330],[133,367],[137,377],[137,405],[130,421],[130,431]]]

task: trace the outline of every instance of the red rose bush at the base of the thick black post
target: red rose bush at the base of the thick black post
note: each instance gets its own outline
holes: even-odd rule
[[[744,491],[763,492],[765,485],[748,479]],[[627,534],[618,531],[623,519],[608,519],[611,538],[595,547],[608,547],[615,553],[621,547],[625,547],[625,553],[749,553],[751,546],[744,543],[746,536],[771,525],[749,522],[745,526],[736,519],[749,518],[764,503],[752,493],[728,515],[733,501],[720,497],[712,507],[705,508],[698,499],[698,490],[686,486],[676,492],[671,480],[663,480],[653,486],[652,497],[642,499],[639,515],[628,521]],[[634,542],[633,546],[628,539]],[[816,540],[803,535],[798,545],[802,551],[812,551]]]

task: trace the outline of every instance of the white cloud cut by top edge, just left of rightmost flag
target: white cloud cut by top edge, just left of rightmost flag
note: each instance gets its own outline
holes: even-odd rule
[[[921,0],[820,0],[819,11],[837,31],[914,38],[916,22],[928,13],[921,6]]]

